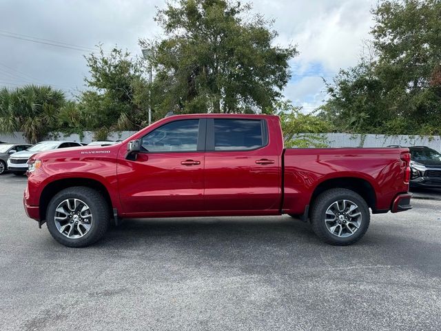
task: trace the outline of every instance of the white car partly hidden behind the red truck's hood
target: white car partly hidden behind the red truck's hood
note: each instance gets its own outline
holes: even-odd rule
[[[37,152],[46,150],[57,150],[57,148],[81,147],[77,141],[41,141],[23,152],[17,152],[8,159],[8,170],[14,174],[21,175],[28,170],[28,160]]]

